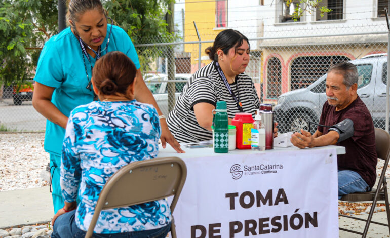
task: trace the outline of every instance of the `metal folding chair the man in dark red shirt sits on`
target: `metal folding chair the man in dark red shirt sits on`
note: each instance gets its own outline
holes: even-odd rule
[[[340,230],[352,232],[355,234],[360,234],[362,237],[367,236],[368,227],[370,226],[370,223],[378,224],[387,226],[390,233],[390,208],[388,203],[388,193],[387,193],[387,182],[386,182],[386,169],[390,157],[390,135],[379,128],[375,128],[375,143],[376,143],[376,153],[379,159],[384,160],[384,165],[382,169],[382,173],[380,174],[379,182],[377,188],[373,188],[370,192],[356,192],[347,194],[341,197],[341,201],[347,201],[347,202],[365,202],[365,201],[372,201],[372,206],[370,209],[370,213],[368,214],[367,219],[347,216],[344,214],[338,214],[342,217],[352,218],[355,220],[365,221],[366,225],[364,227],[363,232],[358,232],[355,230],[349,230],[346,228],[339,227]],[[376,203],[377,201],[384,201],[386,205],[386,213],[387,213],[387,224],[372,221],[372,216],[375,211]]]

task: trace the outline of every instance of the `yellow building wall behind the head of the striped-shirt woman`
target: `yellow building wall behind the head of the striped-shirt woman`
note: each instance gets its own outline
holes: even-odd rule
[[[197,24],[197,28],[202,41],[214,40],[219,32],[223,29],[215,29],[215,2],[199,0],[185,1],[185,20],[184,20],[184,41],[198,41],[197,32],[193,25],[193,21]],[[214,30],[215,29],[215,30]],[[205,49],[212,46],[213,43],[202,44],[202,56],[206,56]],[[185,44],[184,51],[191,53],[191,73],[198,69],[199,45]],[[202,66],[210,63],[210,60],[202,60]]]

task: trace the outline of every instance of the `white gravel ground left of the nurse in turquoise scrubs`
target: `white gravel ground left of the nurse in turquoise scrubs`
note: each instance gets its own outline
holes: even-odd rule
[[[48,186],[45,133],[0,133],[0,191]]]

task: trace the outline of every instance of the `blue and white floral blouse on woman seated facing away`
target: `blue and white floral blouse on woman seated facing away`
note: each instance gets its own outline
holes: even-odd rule
[[[80,229],[88,230],[110,176],[129,163],[157,156],[160,134],[157,111],[136,100],[94,101],[71,111],[62,146],[61,190],[66,202],[80,197],[75,218]],[[157,229],[169,222],[171,211],[163,199],[103,210],[95,233]]]

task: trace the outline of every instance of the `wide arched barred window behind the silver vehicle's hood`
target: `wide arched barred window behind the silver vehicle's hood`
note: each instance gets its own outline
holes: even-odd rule
[[[291,90],[306,88],[322,75],[329,67],[339,62],[349,61],[346,56],[300,56],[291,62]]]

